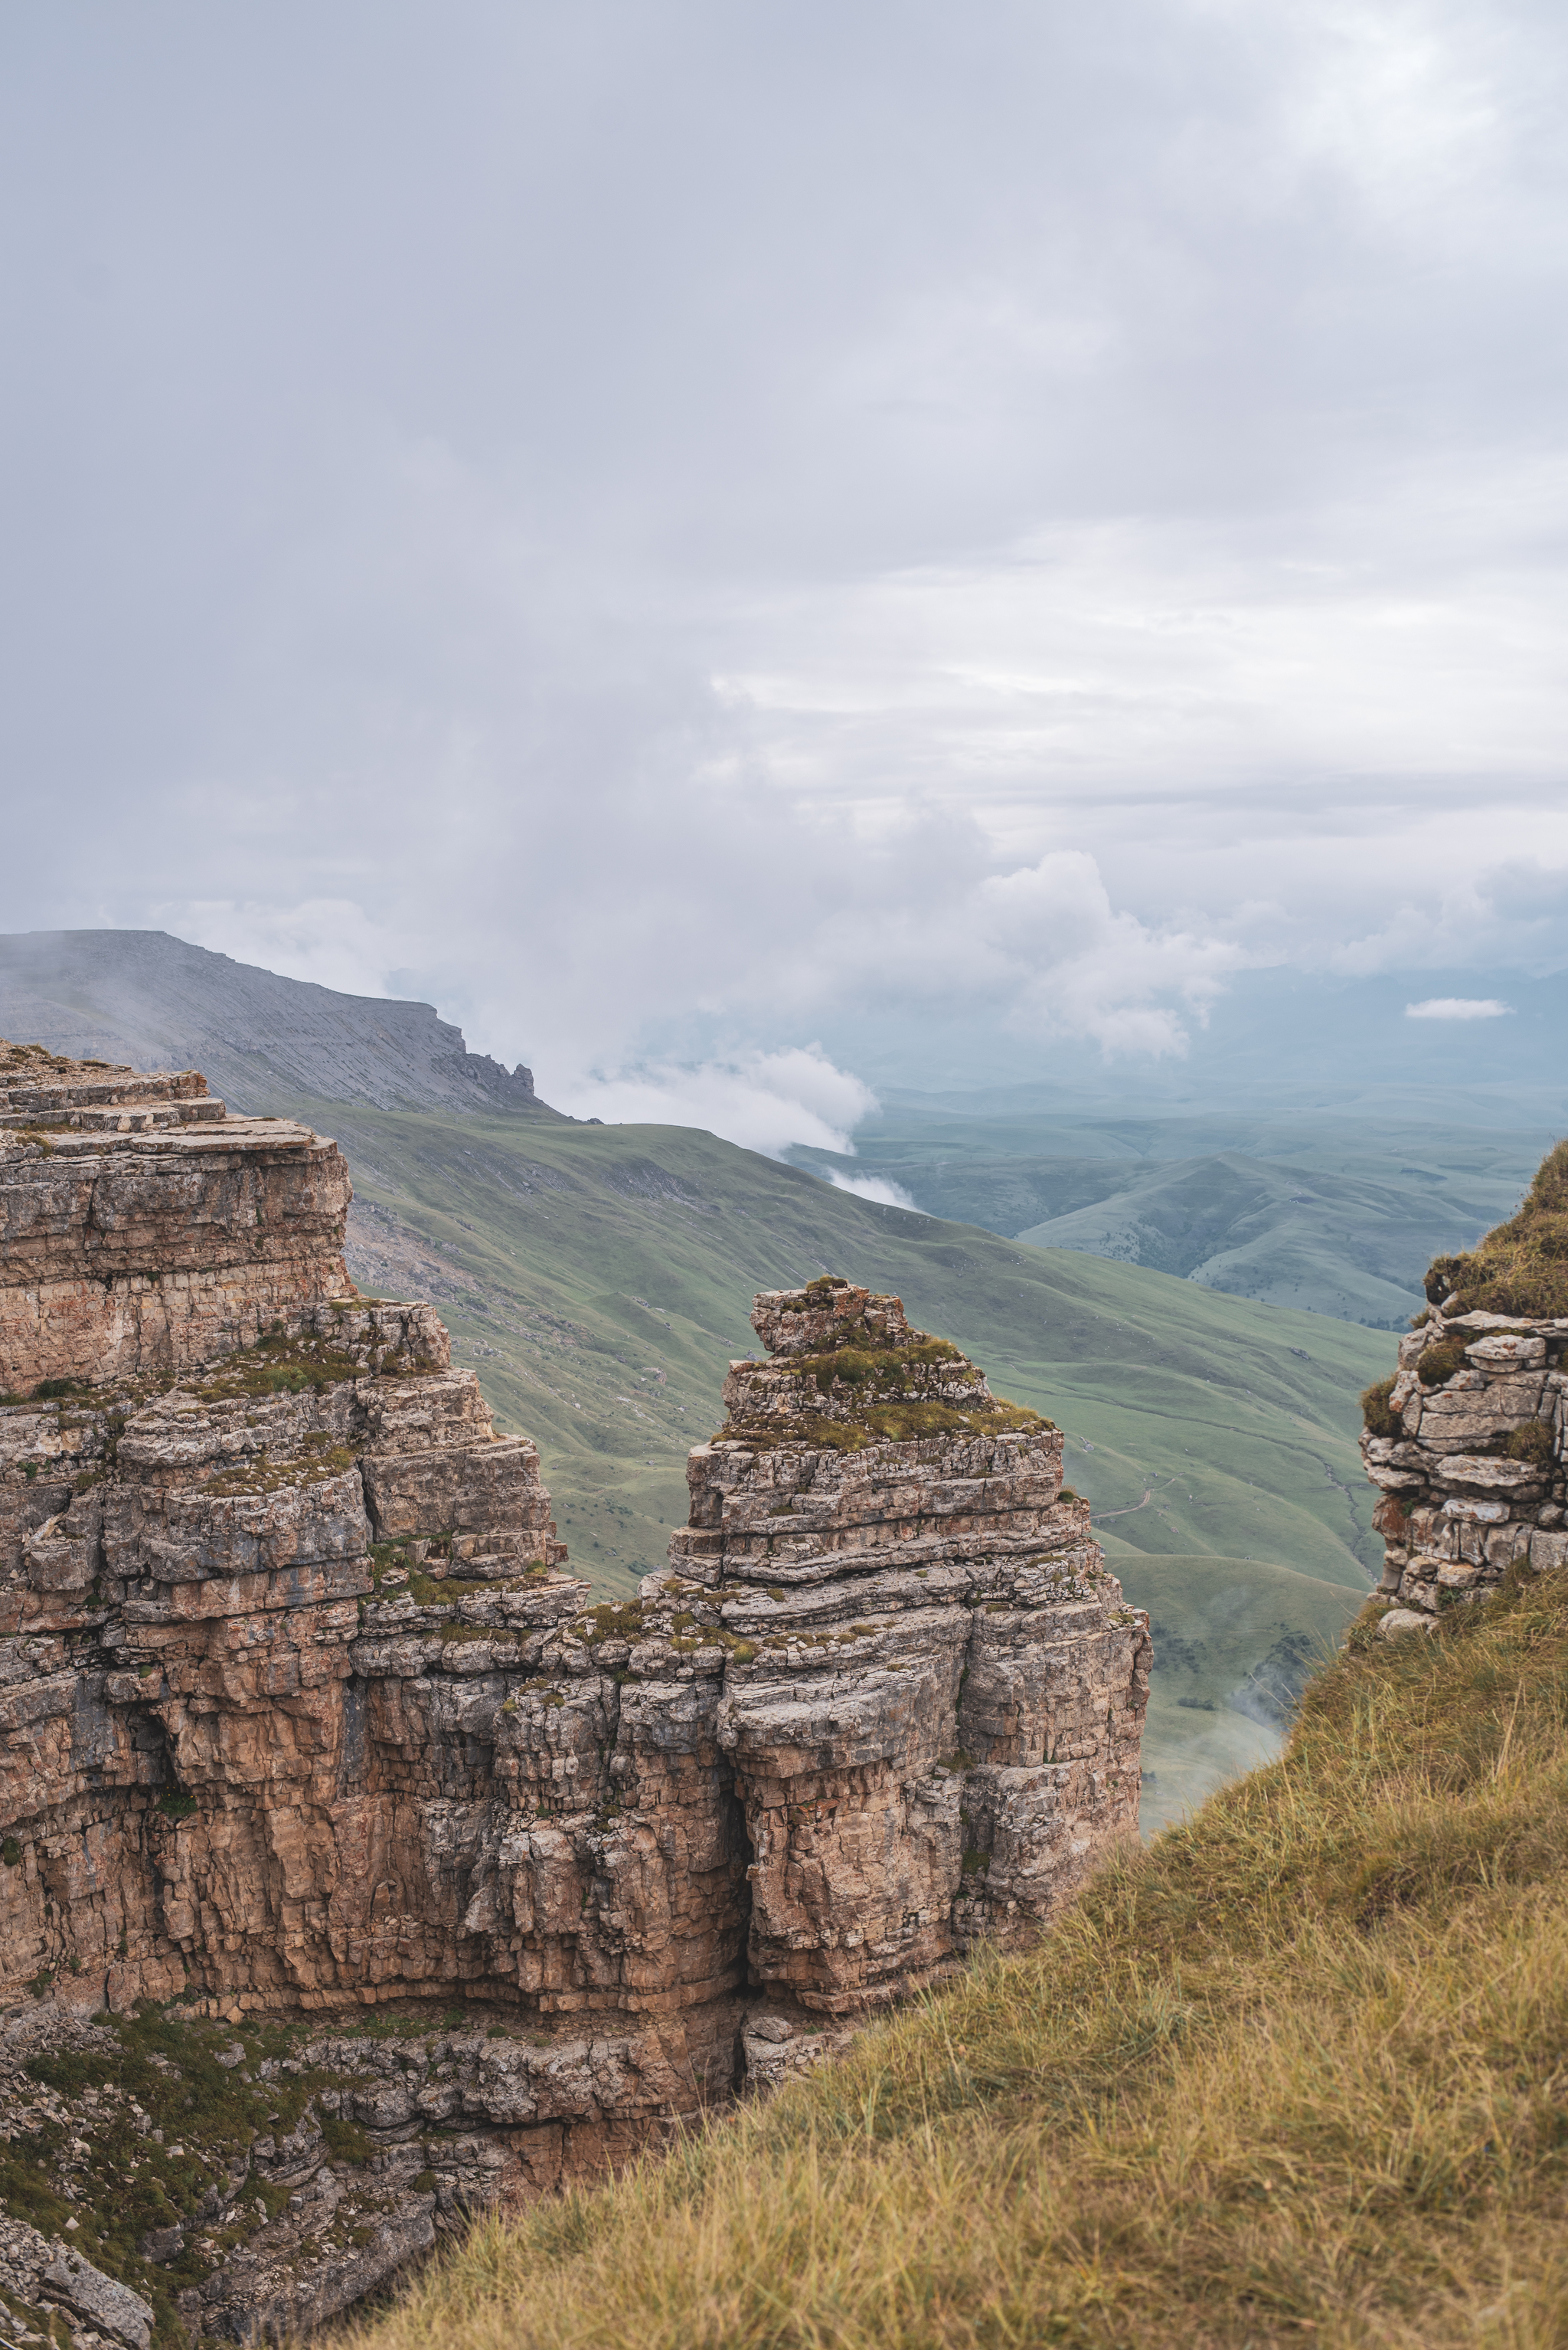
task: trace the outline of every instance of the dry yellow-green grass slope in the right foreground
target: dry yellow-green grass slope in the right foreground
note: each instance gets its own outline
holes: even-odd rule
[[[1368,1640],[1038,1950],[364,2341],[1568,2343],[1568,1577]]]

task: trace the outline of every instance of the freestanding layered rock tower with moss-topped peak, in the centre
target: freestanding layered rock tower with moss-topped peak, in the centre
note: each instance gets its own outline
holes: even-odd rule
[[[845,2014],[1035,1927],[1136,1828],[1148,1619],[1061,1434],[897,1297],[815,1283],[751,1318],[772,1358],[730,1368],[643,1596],[674,1645],[728,1643],[751,1976]]]

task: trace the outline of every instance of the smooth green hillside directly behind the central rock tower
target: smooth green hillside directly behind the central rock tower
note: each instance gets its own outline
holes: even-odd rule
[[[1066,1429],[1129,1593],[1185,1643],[1155,1668],[1150,1819],[1275,1751],[1235,1692],[1279,1640],[1300,1685],[1366,1593],[1357,1396],[1387,1337],[880,1208],[683,1126],[289,1107],[350,1154],[354,1278],[439,1304],[606,1596],[685,1523],[685,1455],[723,1417],[730,1356],[756,1351],[753,1290],[819,1271],[897,1290]]]

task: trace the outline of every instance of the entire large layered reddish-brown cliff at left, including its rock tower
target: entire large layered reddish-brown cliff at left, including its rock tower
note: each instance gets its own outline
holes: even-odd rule
[[[1136,1826],[1145,1619],[1061,1436],[899,1300],[758,1297],[669,1570],[594,1603],[430,1307],[347,1288],[336,1144],[0,1076],[0,2291],[92,2331],[73,2204],[148,2326],[315,2322]]]

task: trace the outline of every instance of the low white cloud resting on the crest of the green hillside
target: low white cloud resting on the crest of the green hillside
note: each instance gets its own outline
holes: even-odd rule
[[[779,1159],[791,1142],[854,1156],[850,1130],[878,1107],[871,1088],[836,1069],[819,1046],[746,1053],[699,1067],[549,1079],[547,1090],[552,1104],[575,1119],[603,1119],[606,1126],[702,1126],[770,1159]]]

